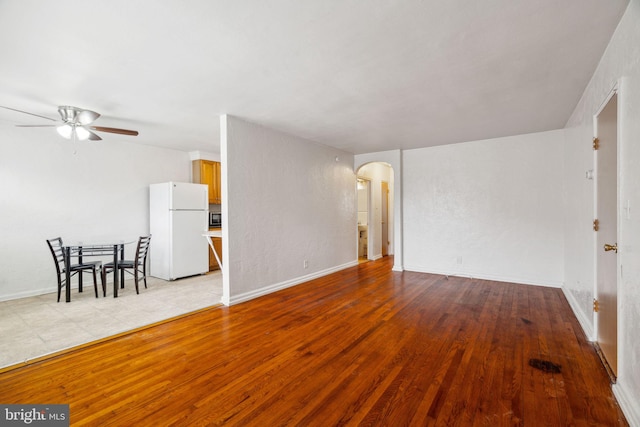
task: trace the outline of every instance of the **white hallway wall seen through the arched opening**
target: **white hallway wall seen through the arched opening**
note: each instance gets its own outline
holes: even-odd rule
[[[358,176],[370,181],[371,191],[371,223],[368,224],[368,246],[370,259],[382,258],[382,181],[389,184],[389,216],[387,222],[389,255],[393,255],[393,170],[386,163],[367,163],[358,169]]]

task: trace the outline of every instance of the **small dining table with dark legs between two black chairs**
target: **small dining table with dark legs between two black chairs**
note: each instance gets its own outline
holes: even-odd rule
[[[113,297],[118,297],[118,287],[124,287],[124,272],[121,272],[118,277],[118,262],[124,260],[124,247],[125,245],[134,243],[135,240],[125,241],[104,241],[104,242],[73,242],[71,244],[63,244],[62,252],[65,258],[65,265],[71,265],[71,258],[77,257],[78,263],[82,264],[83,257],[93,256],[112,256],[113,257]],[[65,301],[71,302],[71,287],[69,286],[71,280],[71,271],[67,268],[65,287]],[[122,284],[120,283],[122,282]],[[82,292],[82,275],[78,276],[78,289]]]

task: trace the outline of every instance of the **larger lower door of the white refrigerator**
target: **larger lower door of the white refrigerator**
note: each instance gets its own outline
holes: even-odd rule
[[[170,279],[209,271],[206,211],[171,211]]]

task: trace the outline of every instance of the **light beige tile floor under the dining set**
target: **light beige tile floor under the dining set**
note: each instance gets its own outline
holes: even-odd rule
[[[118,298],[109,287],[102,297],[98,287],[96,298],[89,280],[84,292],[72,289],[70,303],[56,302],[57,293],[0,301],[0,369],[218,305],[222,298],[219,271],[172,282],[150,277],[147,285],[141,283],[136,295],[126,280]]]

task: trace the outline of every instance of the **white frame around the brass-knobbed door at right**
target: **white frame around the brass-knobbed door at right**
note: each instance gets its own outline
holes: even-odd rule
[[[598,117],[601,115],[601,113],[603,112],[603,110],[607,107],[607,105],[609,104],[609,102],[611,101],[611,99],[614,96],[617,96],[617,108],[616,108],[616,134],[617,134],[617,138],[616,138],[616,242],[618,244],[618,248],[621,247],[621,235],[620,235],[620,200],[621,200],[621,196],[620,196],[620,183],[621,183],[621,179],[620,179],[620,164],[621,164],[621,127],[620,127],[620,122],[621,122],[621,81],[616,81],[615,84],[613,85],[613,87],[611,88],[611,90],[609,91],[609,93],[607,94],[607,96],[604,98],[603,102],[600,104],[600,106],[598,107],[598,109],[596,110],[595,114],[593,115],[593,138],[598,138],[599,132],[598,132]],[[596,178],[596,180],[598,179],[598,150],[593,150],[593,171],[594,171],[594,176]],[[594,182],[594,186],[593,186],[593,212],[594,212],[594,218],[598,218],[598,182],[595,181]],[[595,300],[598,300],[599,295],[598,295],[598,254],[599,252],[602,250],[602,248],[600,248],[599,244],[598,244],[598,238],[595,235],[596,232],[594,232],[594,239],[593,239],[593,297]],[[622,352],[624,351],[624,343],[621,342],[620,337],[622,336],[621,333],[621,322],[620,322],[620,283],[621,283],[621,260],[620,260],[620,256],[616,256],[616,295],[617,295],[617,302],[616,302],[616,318],[617,318],[617,331],[616,331],[616,366],[617,366],[617,377],[621,376],[621,365],[619,363],[620,361],[620,354],[623,354]],[[598,312],[593,310],[593,330],[594,330],[594,336],[593,336],[593,340],[596,343],[599,343],[599,337],[600,337],[600,328],[599,328],[599,324],[598,324]]]

